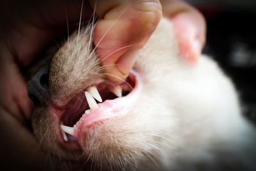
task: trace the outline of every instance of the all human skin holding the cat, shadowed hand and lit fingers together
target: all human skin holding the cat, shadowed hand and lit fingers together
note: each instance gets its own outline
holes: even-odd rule
[[[102,65],[106,73],[121,79],[127,77],[138,50],[145,45],[163,15],[172,20],[180,49],[180,57],[196,63],[205,41],[205,22],[202,15],[182,1],[97,1],[96,15],[102,17],[94,31],[93,42],[109,29],[99,43],[97,54],[104,59],[116,48],[125,48],[108,57]],[[33,105],[28,98],[22,70],[28,67],[49,43],[61,34],[67,34],[79,22],[81,1],[1,1],[0,12],[0,125],[1,158],[8,167],[15,161],[17,167],[26,165],[44,170],[45,154],[39,148],[29,127]],[[95,1],[84,1],[83,20],[90,19]],[[129,8],[127,8],[129,6]],[[132,15],[120,17],[118,11]],[[140,17],[138,17],[140,16]],[[117,20],[118,19],[118,20]],[[117,21],[116,21],[117,20]],[[131,22],[131,20],[133,22]],[[136,22],[134,22],[134,20]],[[123,26],[123,27],[120,27]],[[132,27],[128,36],[125,29]],[[115,34],[114,34],[115,33]],[[112,36],[108,36],[112,35]],[[113,36],[115,35],[115,36]],[[111,42],[111,43],[109,43]],[[114,65],[115,64],[115,65]],[[120,81],[108,77],[113,82]],[[24,158],[26,156],[26,158]],[[42,167],[40,167],[42,166]]]

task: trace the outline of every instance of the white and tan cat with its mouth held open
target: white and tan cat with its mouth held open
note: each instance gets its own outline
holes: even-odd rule
[[[207,56],[179,57],[169,20],[117,84],[106,80],[90,31],[75,31],[28,84],[35,136],[67,170],[256,168],[256,131],[232,81]]]

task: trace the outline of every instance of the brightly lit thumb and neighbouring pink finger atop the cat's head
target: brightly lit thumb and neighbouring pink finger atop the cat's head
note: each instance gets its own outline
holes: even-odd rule
[[[103,2],[99,1],[99,4],[103,4]],[[116,6],[118,1],[113,0],[109,4]],[[107,17],[98,22],[94,32],[96,45],[111,24],[119,17],[119,14],[122,13],[120,11],[126,10],[125,13],[132,13],[132,15],[124,14],[122,20],[116,22],[115,26],[108,31],[106,38],[97,47],[97,53],[103,60],[102,65],[105,66],[106,73],[109,73],[109,80],[119,82],[127,77],[140,48],[147,43],[148,38],[157,27],[161,18],[161,11],[159,11],[161,8],[163,8],[164,17],[170,19],[173,24],[180,57],[192,64],[198,61],[205,43],[206,26],[203,15],[184,1],[162,0],[161,4],[159,1],[152,1],[143,5],[134,3],[134,6],[137,5],[140,8],[134,8],[134,6],[127,8],[127,6],[120,5],[118,8],[110,10],[109,14],[106,15]],[[120,48],[123,49],[118,50]],[[115,52],[116,50],[118,52]],[[115,53],[111,54],[112,52]]]

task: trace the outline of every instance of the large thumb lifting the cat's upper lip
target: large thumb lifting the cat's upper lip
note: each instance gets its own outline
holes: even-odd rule
[[[94,30],[107,77],[113,82],[125,79],[140,49],[147,43],[162,15],[159,1],[99,1],[97,15],[103,16]],[[108,12],[106,12],[108,11]]]

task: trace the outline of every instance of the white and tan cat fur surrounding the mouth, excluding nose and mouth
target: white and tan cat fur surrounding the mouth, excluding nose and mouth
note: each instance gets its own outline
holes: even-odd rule
[[[70,36],[53,57],[51,103],[65,106],[104,78],[99,58],[88,47],[88,30]],[[241,115],[234,85],[209,57],[193,66],[182,60],[169,21],[161,20],[134,70],[143,79],[138,103],[125,115],[93,125],[83,151],[62,147],[51,107],[36,108],[33,129],[42,147],[92,170],[255,168],[256,133]]]

